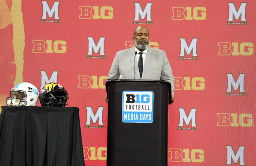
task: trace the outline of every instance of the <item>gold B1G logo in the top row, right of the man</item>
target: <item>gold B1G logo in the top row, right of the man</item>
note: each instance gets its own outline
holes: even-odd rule
[[[171,7],[173,16],[171,20],[205,20],[205,7]],[[193,11],[193,12],[192,12]]]

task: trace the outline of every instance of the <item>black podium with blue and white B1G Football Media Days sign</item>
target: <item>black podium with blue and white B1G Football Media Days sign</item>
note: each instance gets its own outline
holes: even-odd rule
[[[171,84],[157,80],[110,80],[107,166],[167,166]]]

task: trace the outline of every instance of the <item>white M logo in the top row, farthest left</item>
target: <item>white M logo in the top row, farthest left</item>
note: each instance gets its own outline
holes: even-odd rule
[[[48,5],[47,1],[41,1],[41,2],[42,2],[41,22],[60,23],[61,22],[61,20],[59,18],[59,3],[60,3],[60,1],[54,1],[54,3],[52,4],[52,7],[50,7]]]

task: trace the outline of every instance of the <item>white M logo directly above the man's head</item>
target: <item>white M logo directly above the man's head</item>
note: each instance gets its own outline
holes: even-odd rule
[[[147,5],[144,7],[144,10],[142,10],[140,3],[134,2],[134,5],[135,5],[135,17],[133,19],[134,21],[133,24],[153,24],[151,19],[152,3],[147,3]]]

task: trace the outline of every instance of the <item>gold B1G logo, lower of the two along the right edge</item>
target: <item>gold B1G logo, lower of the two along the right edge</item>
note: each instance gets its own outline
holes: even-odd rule
[[[217,113],[217,126],[224,127],[252,127],[253,115],[251,113]]]

